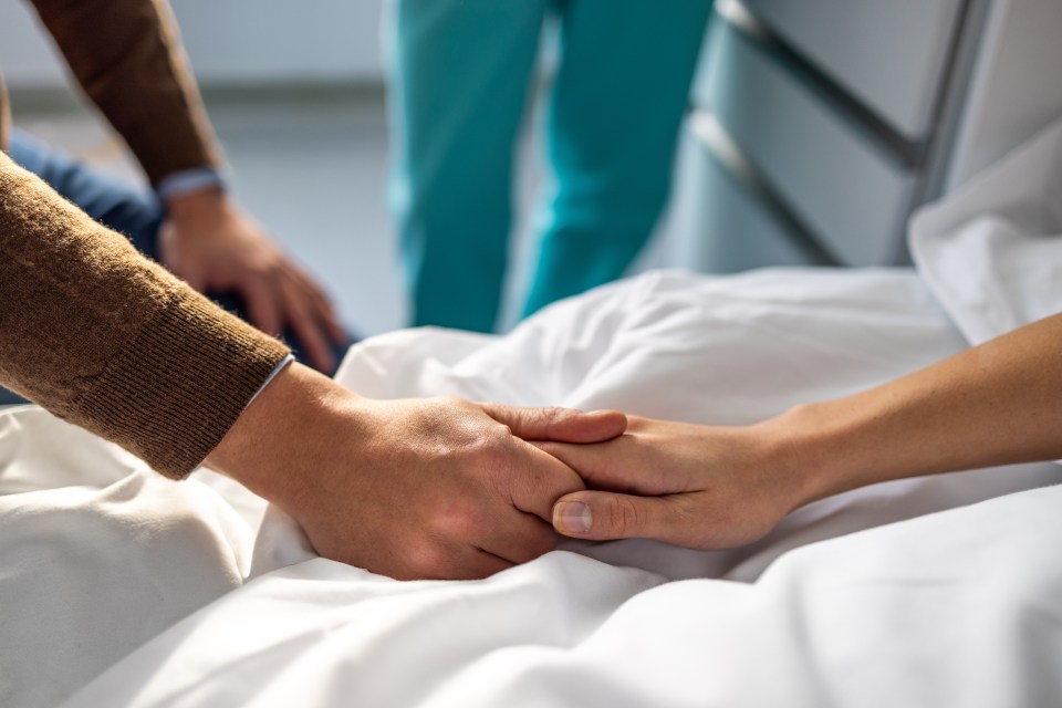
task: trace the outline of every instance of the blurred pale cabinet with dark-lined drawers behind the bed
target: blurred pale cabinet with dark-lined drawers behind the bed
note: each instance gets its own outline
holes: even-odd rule
[[[717,0],[691,264],[908,262],[915,208],[1062,114],[1060,35],[1062,0]]]

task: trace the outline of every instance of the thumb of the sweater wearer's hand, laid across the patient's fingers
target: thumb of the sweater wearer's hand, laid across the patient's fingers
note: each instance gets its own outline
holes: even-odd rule
[[[524,440],[604,442],[623,435],[627,429],[627,416],[618,410],[583,413],[572,408],[481,405],[487,415],[509,426],[513,435]]]

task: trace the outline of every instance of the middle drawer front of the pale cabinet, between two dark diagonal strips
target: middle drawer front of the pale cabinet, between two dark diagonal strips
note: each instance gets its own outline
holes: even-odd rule
[[[893,264],[915,175],[726,22],[701,69],[695,103],[822,244],[846,266]]]

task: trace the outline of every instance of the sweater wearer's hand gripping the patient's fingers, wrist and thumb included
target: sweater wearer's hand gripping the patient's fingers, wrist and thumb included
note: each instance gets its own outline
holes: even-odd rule
[[[292,516],[322,555],[400,579],[481,577],[553,549],[553,500],[583,488],[516,436],[597,441],[625,424],[618,413],[371,400],[291,364],[207,462]]]

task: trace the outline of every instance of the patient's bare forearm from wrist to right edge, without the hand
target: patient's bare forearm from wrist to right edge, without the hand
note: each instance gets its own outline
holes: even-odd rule
[[[1062,457],[1062,315],[871,391],[764,424],[799,458],[801,503],[874,482]]]

